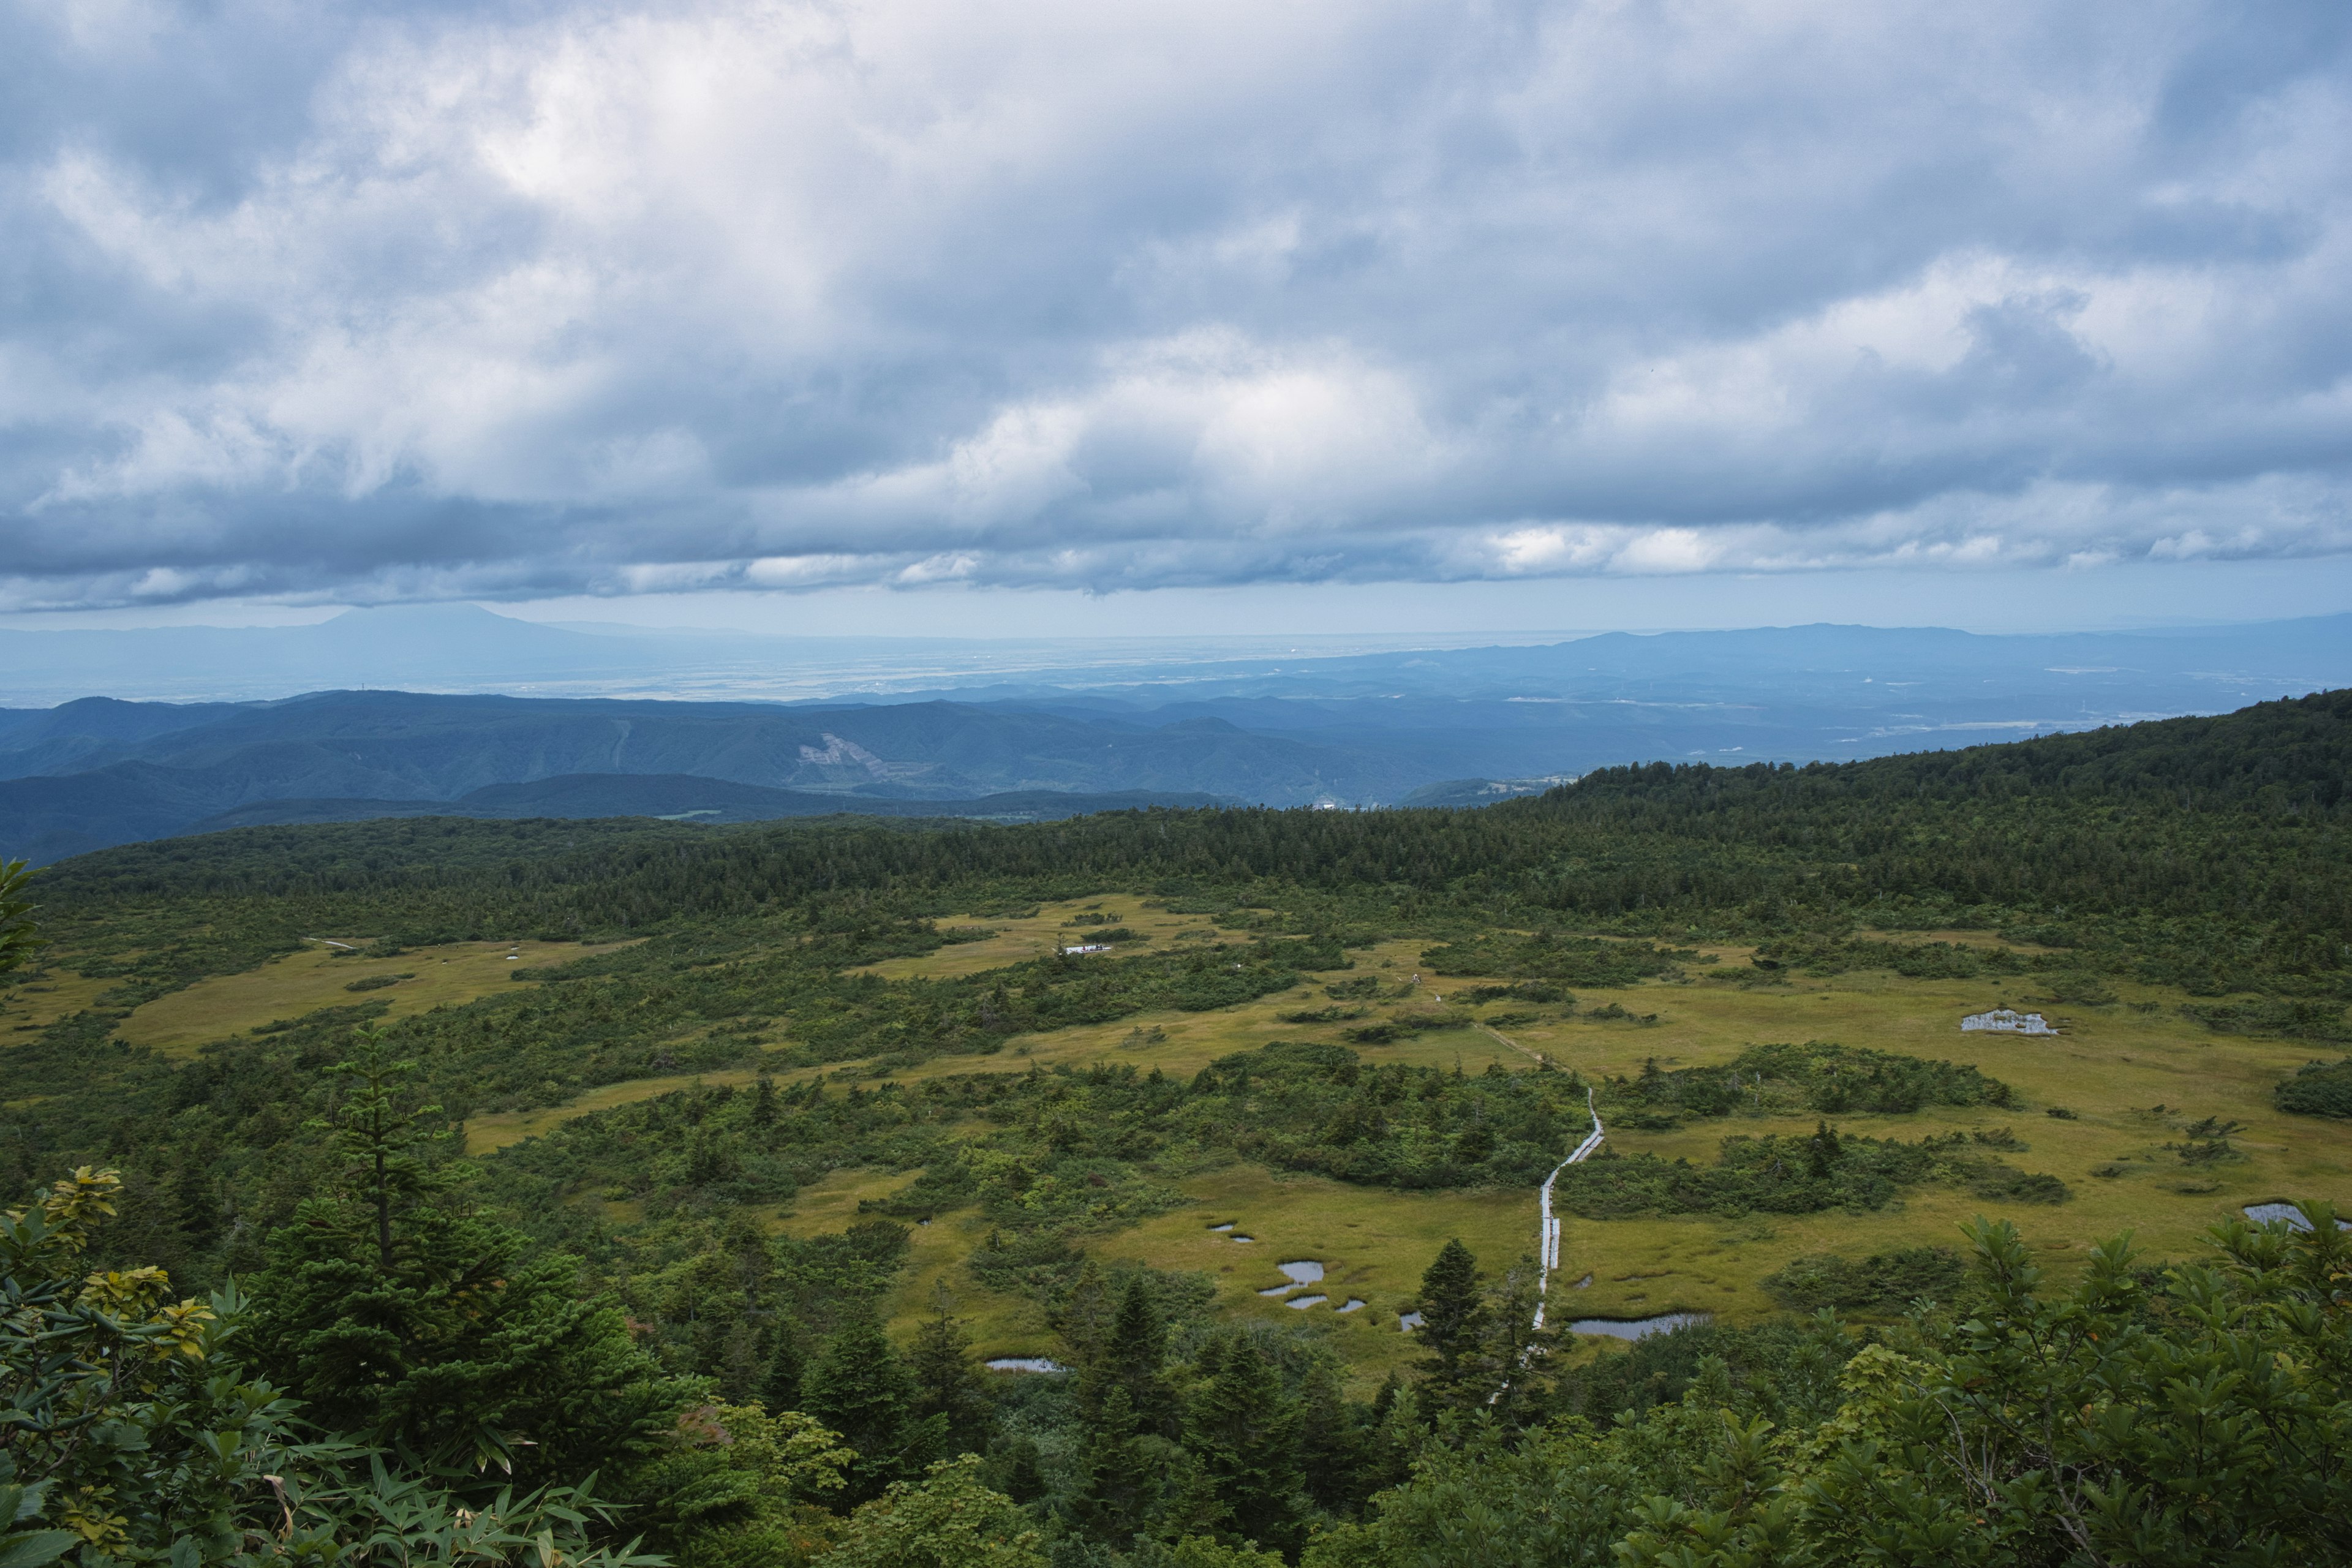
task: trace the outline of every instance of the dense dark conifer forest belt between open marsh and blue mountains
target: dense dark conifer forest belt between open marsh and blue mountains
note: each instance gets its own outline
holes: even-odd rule
[[[1482,811],[1143,811],[1040,827],[360,823],[125,846],[49,872],[75,947],[202,973],[325,926],[405,943],[833,926],[1110,882],[1289,886],[1324,924],[1559,919],[1778,936],[2027,922],[2197,990],[2340,994],[2352,693],[1839,766],[1611,769]],[[148,929],[202,900],[205,931]],[[873,914],[844,914],[868,910]]]

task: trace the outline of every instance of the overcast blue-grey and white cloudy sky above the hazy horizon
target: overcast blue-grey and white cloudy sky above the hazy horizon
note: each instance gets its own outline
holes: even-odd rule
[[[0,611],[2274,614],[2352,581],[2347,45],[2343,0],[0,0]]]

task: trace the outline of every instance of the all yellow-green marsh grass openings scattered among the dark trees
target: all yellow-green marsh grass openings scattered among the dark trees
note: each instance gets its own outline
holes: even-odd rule
[[[990,936],[934,952],[854,966],[887,983],[974,978],[1002,971],[1082,938],[1075,919],[1117,919],[1136,947],[1190,950],[1242,938],[1204,914],[1155,907],[1148,891],[1105,891],[1044,900],[1014,917],[950,910],[943,931],[985,929]],[[1929,931],[1992,950],[1983,931]],[[365,938],[360,938],[365,940]],[[2060,1274],[2077,1267],[2093,1241],[2131,1232],[2159,1258],[2190,1255],[2209,1227],[2246,1204],[2286,1197],[2352,1201],[2352,1124],[2288,1117],[2272,1105],[2272,1086],[2312,1058],[2303,1041],[2218,1034],[2183,1013],[2178,987],[2122,983],[2098,1006],[2044,1001],[2032,976],[1999,980],[1922,980],[1891,971],[1837,976],[1771,976],[1752,966],[1752,945],[1710,943],[1700,961],[1675,980],[1621,987],[1578,987],[1573,1004],[1524,1006],[1510,999],[1470,1001],[1472,983],[1442,978],[1421,964],[1425,940],[1390,938],[1348,952],[1352,969],[1301,973],[1294,987],[1211,1011],[1136,1011],[1110,1023],[1018,1034],[993,1056],[934,1056],[913,1065],[849,1058],[795,1065],[790,1034],[760,1041],[757,1060],[706,1072],[661,1072],[595,1086],[553,1105],[480,1112],[463,1121],[463,1147],[475,1159],[543,1135],[579,1117],[659,1095],[748,1088],[769,1079],[779,1088],[811,1081],[915,1086],[974,1072],[1033,1067],[1124,1065],[1190,1079],[1209,1063],[1277,1039],[1334,1037],[1327,1025],[1284,1023],[1284,1013],[1329,1009],[1324,987],[1374,978],[1383,997],[1345,1009],[1345,1025],[1364,1027],[1402,1013],[1439,1011],[1461,1027],[1406,1034],[1392,1044],[1355,1044],[1364,1063],[1484,1074],[1489,1067],[1526,1074],[1538,1060],[1590,1081],[1632,1079],[1644,1065],[1663,1070],[1712,1067],[1764,1041],[1835,1041],[1929,1060],[1980,1067],[2018,1091],[2009,1107],[1922,1107],[1910,1114],[1842,1114],[1837,1128],[1865,1138],[1919,1138],[1943,1131],[2009,1128],[2025,1147],[2013,1164],[2060,1178],[2065,1204],[2002,1204],[1950,1187],[1917,1187],[1877,1211],[1802,1215],[1642,1215],[1585,1220],[1569,1215],[1555,1312],[1562,1316],[1639,1319],[1663,1312],[1708,1312],[1719,1321],[1759,1321],[1778,1309],[1764,1279],[1790,1260],[1816,1253],[1863,1258],[1907,1246],[1952,1246],[1973,1215],[2016,1222],[2042,1260]],[[2030,947],[2025,947],[2032,952]],[[198,1046],[235,1048],[256,1025],[334,1009],[353,997],[390,1004],[400,1018],[459,1009],[485,994],[546,985],[550,961],[602,952],[553,943],[452,943],[395,957],[355,957],[320,943],[254,969],[212,976],[127,1013],[115,1034],[167,1058],[191,1058]],[[746,961],[757,964],[757,952]],[[1096,954],[1089,964],[1129,964]],[[522,971],[520,976],[515,971]],[[395,978],[353,992],[372,976]],[[75,983],[68,978],[66,987]],[[89,983],[80,983],[89,990]],[[1446,990],[1454,992],[1446,999]],[[54,1016],[59,987],[21,1001],[33,1018]],[[71,992],[66,992],[71,997]],[[87,1001],[87,997],[85,997]],[[1964,1034],[1959,1018],[1990,1006],[2039,1006],[2060,1027],[2053,1039]],[[1597,1013],[1623,1011],[1625,1018]],[[1491,1020],[1501,1020],[1496,1027]],[[708,1030],[703,1032],[708,1037]],[[673,1044],[691,1044],[680,1034]],[[2065,1117],[2049,1112],[2060,1110]],[[2204,1119],[2230,1126],[2223,1159],[2187,1164],[2185,1131]],[[1675,1128],[1609,1128],[1606,1150],[1708,1164],[1726,1135],[1809,1135],[1818,1117],[1740,1112],[1696,1119]],[[964,1126],[964,1133],[978,1128]],[[1566,1150],[1562,1150],[1566,1152]],[[793,1199],[755,1204],[760,1222],[779,1234],[837,1232],[877,1199],[906,1190],[913,1171],[844,1166],[800,1187]],[[1105,1262],[1138,1262],[1185,1272],[1214,1284],[1214,1314],[1265,1321],[1322,1335],[1359,1378],[1376,1380],[1411,1359],[1397,1314],[1411,1305],[1421,1272],[1446,1239],[1463,1239],[1491,1267],[1529,1255],[1536,1241],[1531,1187],[1468,1187],[1395,1192],[1327,1175],[1270,1171],[1249,1161],[1176,1178],[1183,1206],[1089,1234],[1089,1253]],[[640,1225],[642,1206],[604,1201],[588,1192],[564,1199],[597,1225]],[[1211,1225],[1235,1225],[1251,1241],[1237,1244]],[[906,1269],[887,1295],[887,1316],[910,1331],[936,1291],[955,1295],[976,1333],[978,1354],[1054,1354],[1058,1338],[1044,1305],[1018,1293],[990,1291],[964,1272],[964,1258],[985,1234],[976,1208],[946,1211],[917,1225]],[[1317,1260],[1329,1300],[1294,1309],[1261,1295],[1284,1284],[1277,1262]],[[1298,1295],[1305,1295],[1301,1291]],[[1348,1300],[1364,1307],[1341,1314]]]

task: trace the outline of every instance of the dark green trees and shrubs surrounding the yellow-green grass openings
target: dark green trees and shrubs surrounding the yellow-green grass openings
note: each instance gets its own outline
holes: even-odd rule
[[[24,1194],[0,1229],[0,1563],[2352,1561],[2352,1251],[2321,1206],[2187,1262],[2117,1241],[2065,1286],[2004,1225],[1799,1260],[1773,1286],[1792,1316],[1599,1361],[1531,1328],[1522,1265],[1456,1244],[1421,1286],[1421,1366],[1369,1399],[1312,1335],[1225,1324],[1200,1279],[1101,1258],[1207,1161],[1531,1187],[1590,1126],[1588,1091],[1632,1126],[1750,1100],[1818,1126],[1726,1135],[1712,1164],[1571,1166],[1578,1215],[1867,1211],[1924,1185],[2065,1201],[2009,1128],[1839,1131],[2009,1107],[1976,1067],[1830,1041],[1592,1084],[1406,1067],[1350,1039],[1371,973],[1190,1079],[1014,1053],[1279,994],[1374,940],[1529,1006],[1750,943],[1724,983],[2173,985],[2197,1027],[2314,1041],[2279,1103],[2343,1117],[2319,1058],[2352,1004],[2347,717],[2352,693],[2324,693],[1860,764],[1653,764],[1477,811],[426,818],[19,872],[9,980],[103,990],[0,1037],[0,1185]],[[1105,926],[1112,961],[856,973],[985,933],[946,917],[1101,893],[1232,940]],[[379,957],[642,940],[397,1020],[360,987],[193,1056],[115,1034],[320,931]],[[917,1084],[863,1077],[938,1058]],[[456,1154],[468,1117],[713,1070],[767,1077]],[[750,1220],[851,1166],[913,1182],[835,1234]],[[1068,1375],[978,1373],[953,1291],[913,1340],[882,1328],[908,1227],[950,1208],[990,1225],[974,1288],[1044,1302]]]

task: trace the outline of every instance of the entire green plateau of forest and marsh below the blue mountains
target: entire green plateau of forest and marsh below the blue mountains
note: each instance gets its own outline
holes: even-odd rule
[[[115,1556],[270,1474],[263,1554],[1846,1561],[1863,1509],[2194,1540],[2218,1460],[2129,1415],[2204,1378],[2326,1540],[2347,719],[19,865],[14,1462]]]

